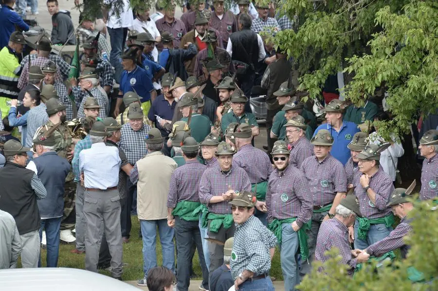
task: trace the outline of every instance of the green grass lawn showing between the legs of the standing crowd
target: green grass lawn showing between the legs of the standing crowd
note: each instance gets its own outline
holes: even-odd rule
[[[140,229],[140,223],[136,216],[132,216],[132,230],[129,243],[123,244],[123,262],[128,263],[128,266],[123,268],[123,280],[138,280],[143,278],[143,253],[142,253],[142,240],[138,237]],[[61,244],[59,248],[59,260],[58,267],[85,269],[85,254],[76,255],[70,253],[75,247],[74,244]],[[41,249],[41,264],[46,266],[46,250]],[[163,256],[161,254],[161,245],[157,232],[157,262],[158,265],[163,263]],[[20,266],[20,264],[19,264]],[[199,264],[198,254],[195,253],[193,259],[193,266],[195,273],[201,276],[201,266]],[[100,270],[99,273],[110,275],[110,272]],[[282,280],[281,267],[280,267],[280,254],[278,250],[275,252],[274,260],[272,262],[271,275],[276,277],[277,280]],[[201,280],[202,278],[197,278]]]

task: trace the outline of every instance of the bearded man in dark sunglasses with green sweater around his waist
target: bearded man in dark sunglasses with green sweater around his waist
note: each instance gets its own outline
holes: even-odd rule
[[[286,142],[278,140],[271,152],[275,170],[271,173],[266,192],[268,228],[280,244],[284,289],[292,291],[299,284],[298,246],[301,259],[308,258],[306,228],[312,216],[312,196],[304,173],[289,165]]]

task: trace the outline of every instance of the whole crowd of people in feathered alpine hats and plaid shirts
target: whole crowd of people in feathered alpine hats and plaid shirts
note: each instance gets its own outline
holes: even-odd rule
[[[63,240],[86,270],[108,268],[121,280],[132,215],[143,242],[137,284],[152,291],[174,283],[188,291],[196,250],[199,289],[211,291],[274,290],[276,248],[286,291],[333,246],[348,274],[370,256],[401,248],[406,257],[416,182],[395,188],[400,137],[386,140],[370,122],[390,112],[371,100],[348,104],[329,86],[323,108],[303,103],[293,61],[260,35],[292,29],[291,19],[249,0],[228,11],[223,0],[191,0],[181,19],[175,5],[149,15],[123,3],[120,12],[109,2],[95,21],[81,15],[80,38],[48,0],[52,35],[30,43],[15,31],[29,29],[15,0],[3,0],[1,269],[18,257],[23,268],[40,267],[41,247],[46,266],[57,267]],[[77,40],[80,68],[52,52]],[[25,46],[34,50],[23,57]],[[266,151],[254,146],[257,90],[266,95]],[[420,200],[438,197],[432,123],[419,138]]]

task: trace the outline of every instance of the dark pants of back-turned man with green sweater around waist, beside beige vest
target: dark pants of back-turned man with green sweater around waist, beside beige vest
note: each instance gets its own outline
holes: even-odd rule
[[[199,222],[188,222],[175,217],[175,238],[177,242],[178,290],[188,291],[190,285],[190,265],[192,249],[195,244],[198,249],[199,261],[202,270],[202,286],[208,289],[208,269],[202,252],[201,232]]]

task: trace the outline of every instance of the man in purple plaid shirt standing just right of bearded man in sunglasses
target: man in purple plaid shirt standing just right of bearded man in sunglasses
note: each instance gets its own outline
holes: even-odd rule
[[[309,274],[311,262],[316,248],[316,238],[323,221],[333,218],[336,206],[347,192],[347,174],[344,166],[331,154],[333,137],[326,129],[321,129],[310,143],[313,145],[314,156],[310,156],[301,164],[313,196],[313,213],[311,231],[309,233],[309,259],[303,263],[300,274]]]

